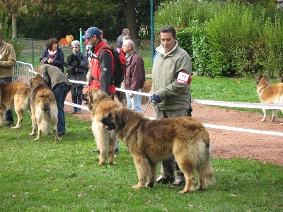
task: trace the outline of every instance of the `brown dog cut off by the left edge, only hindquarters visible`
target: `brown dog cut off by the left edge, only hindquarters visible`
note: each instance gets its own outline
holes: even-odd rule
[[[18,117],[16,126],[20,128],[23,122],[23,112],[30,110],[30,86],[27,83],[0,83],[0,126],[4,124],[4,114],[15,108]]]

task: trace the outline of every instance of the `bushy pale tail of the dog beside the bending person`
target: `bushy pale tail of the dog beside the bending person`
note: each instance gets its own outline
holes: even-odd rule
[[[47,135],[50,133],[51,102],[47,98],[42,98],[38,103],[39,106],[36,107],[35,110],[35,117],[38,125],[38,130],[42,131],[43,134]]]

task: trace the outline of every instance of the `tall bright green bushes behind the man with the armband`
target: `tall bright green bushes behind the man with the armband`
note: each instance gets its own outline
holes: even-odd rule
[[[178,29],[178,42],[199,75],[282,78],[283,13],[274,1],[240,3],[167,1],[155,13],[155,29],[168,23]]]

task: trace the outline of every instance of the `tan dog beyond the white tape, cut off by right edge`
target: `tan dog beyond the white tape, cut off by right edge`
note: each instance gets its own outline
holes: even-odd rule
[[[260,98],[260,102],[266,104],[281,104],[283,105],[283,83],[278,83],[272,85],[270,83],[270,79],[267,76],[260,75],[256,78],[256,83],[258,85],[258,97]],[[263,118],[262,122],[266,121],[266,111],[263,110]],[[281,110],[283,112],[283,110]],[[272,122],[276,122],[277,118],[277,110],[272,109]],[[283,123],[281,123],[283,125]]]

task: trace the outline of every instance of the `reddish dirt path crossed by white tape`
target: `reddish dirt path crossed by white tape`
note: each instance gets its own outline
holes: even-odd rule
[[[67,96],[71,102],[71,93]],[[143,105],[143,110],[146,105]],[[65,106],[65,112],[71,113],[73,108]],[[214,124],[221,126],[239,127],[264,131],[283,132],[283,126],[277,122],[260,122],[262,114],[238,112],[232,109],[219,109],[217,107],[192,103],[192,117],[202,124]],[[146,117],[154,117],[151,105],[147,108]],[[81,114],[74,114],[81,119],[90,120],[89,112],[82,110]],[[270,136],[265,134],[252,134],[239,131],[208,128],[212,142],[212,158],[246,158],[257,159],[268,163],[283,165],[283,136]]]

